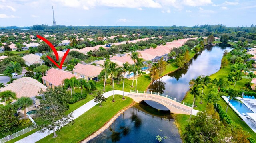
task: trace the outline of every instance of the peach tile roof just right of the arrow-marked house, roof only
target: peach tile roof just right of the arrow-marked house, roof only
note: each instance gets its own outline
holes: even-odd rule
[[[98,76],[102,71],[102,69],[103,69],[102,67],[97,67],[94,65],[83,65],[78,63],[75,66],[75,69],[73,70],[73,72],[80,73],[88,77],[94,77],[94,76]]]

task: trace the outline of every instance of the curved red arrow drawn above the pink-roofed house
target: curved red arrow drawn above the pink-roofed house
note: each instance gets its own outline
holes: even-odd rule
[[[59,55],[58,55],[58,52],[57,50],[55,49],[54,45],[52,45],[52,43],[50,41],[48,41],[47,39],[45,39],[44,37],[40,36],[40,35],[36,35],[36,37],[38,37],[39,39],[43,40],[47,45],[50,46],[50,48],[52,49],[55,57],[56,57],[56,60],[59,61]],[[68,56],[68,52],[69,52],[69,49],[66,51],[66,53],[64,54],[64,56],[62,57],[61,61],[60,61],[60,65],[58,65],[50,56],[47,56],[47,58],[52,61],[52,63],[54,63],[54,65],[56,65],[58,68],[62,69],[62,65],[66,59],[66,57]]]

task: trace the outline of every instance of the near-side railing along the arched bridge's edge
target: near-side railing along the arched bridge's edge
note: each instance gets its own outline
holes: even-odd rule
[[[190,113],[190,112],[191,112],[191,110],[187,110],[187,109],[185,109],[185,108],[182,108],[181,106],[174,105],[174,104],[172,104],[171,102],[168,102],[168,101],[163,100],[163,99],[161,99],[161,98],[157,98],[157,97],[155,97],[155,96],[143,95],[143,94],[126,94],[126,96],[130,96],[130,97],[142,97],[142,98],[154,99],[154,100],[158,100],[158,101],[160,101],[160,102],[164,102],[165,104],[168,104],[168,105],[170,105],[170,106],[172,106],[172,107],[174,107],[174,108],[177,108],[177,109],[179,109],[179,110],[182,110],[182,111],[184,111],[184,112],[187,112],[187,113]]]

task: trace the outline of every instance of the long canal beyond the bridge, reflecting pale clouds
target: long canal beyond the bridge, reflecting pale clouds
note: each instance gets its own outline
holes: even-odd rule
[[[163,87],[157,87],[158,81],[152,83],[148,90],[160,91],[178,100],[182,100],[189,89],[189,81],[199,75],[211,75],[220,69],[224,50],[230,51],[228,44],[206,46],[205,50],[192,58],[184,68],[162,77]],[[159,84],[159,83],[158,83]],[[161,84],[160,84],[161,85]],[[159,89],[162,89],[159,90]],[[151,106],[151,105],[150,105]]]

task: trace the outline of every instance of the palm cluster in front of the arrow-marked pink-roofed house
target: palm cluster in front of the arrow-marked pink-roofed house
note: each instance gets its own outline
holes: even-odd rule
[[[88,80],[84,79],[84,78],[79,78],[76,79],[76,77],[72,77],[70,79],[65,79],[63,81],[64,83],[64,88],[68,89],[70,88],[70,93],[71,93],[71,98],[73,96],[73,94],[75,94],[74,88],[80,88],[81,89],[81,94],[83,93],[83,90],[88,89],[89,92],[91,90],[91,85],[90,83],[88,83]]]

